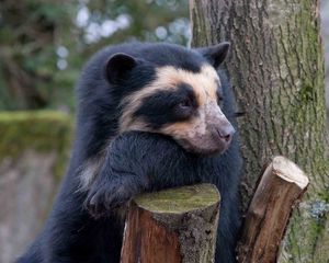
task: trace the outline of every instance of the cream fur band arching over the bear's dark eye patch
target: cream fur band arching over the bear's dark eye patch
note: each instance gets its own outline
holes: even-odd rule
[[[157,91],[163,89],[174,90],[179,83],[188,83],[193,87],[195,98],[200,108],[203,108],[206,103],[217,101],[219,78],[215,69],[208,65],[204,65],[201,71],[195,73],[184,69],[174,68],[172,66],[160,67],[157,69],[157,78],[148,87],[137,91],[129,96],[125,98],[122,102],[124,107],[123,114],[120,119],[120,132],[125,130],[146,130],[151,132],[143,118],[133,118],[134,112],[140,106],[145,98],[155,94]],[[218,106],[217,106],[218,107]],[[202,116],[203,111],[200,111]],[[185,123],[182,123],[185,125]],[[191,124],[189,124],[191,127]]]

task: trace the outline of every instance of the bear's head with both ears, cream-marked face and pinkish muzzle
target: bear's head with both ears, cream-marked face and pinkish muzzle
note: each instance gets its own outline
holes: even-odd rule
[[[112,55],[105,78],[121,98],[118,133],[163,134],[195,153],[225,151],[235,129],[220,108],[216,68],[228,48],[228,43],[200,49],[150,45],[149,54]]]

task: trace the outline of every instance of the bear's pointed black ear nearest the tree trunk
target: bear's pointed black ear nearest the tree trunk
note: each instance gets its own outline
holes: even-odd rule
[[[230,44],[222,42],[215,46],[196,48],[214,68],[217,68],[226,58]]]

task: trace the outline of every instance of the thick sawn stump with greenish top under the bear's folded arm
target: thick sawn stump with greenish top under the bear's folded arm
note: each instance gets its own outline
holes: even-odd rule
[[[128,210],[121,262],[213,262],[218,216],[212,184],[139,195]]]

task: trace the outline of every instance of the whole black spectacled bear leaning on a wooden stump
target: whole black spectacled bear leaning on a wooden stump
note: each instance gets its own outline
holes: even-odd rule
[[[216,71],[228,48],[131,43],[90,59],[77,85],[70,165],[19,263],[120,262],[134,195],[202,182],[222,195],[216,262],[236,261],[241,160],[234,95]]]

